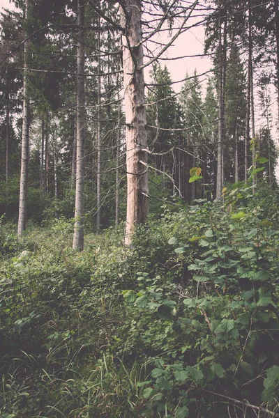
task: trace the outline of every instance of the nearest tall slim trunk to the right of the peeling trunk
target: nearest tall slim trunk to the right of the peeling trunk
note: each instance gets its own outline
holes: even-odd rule
[[[222,47],[222,22],[219,17],[219,121],[218,121],[218,154],[217,154],[217,178],[216,178],[216,199],[222,199],[223,189],[223,47]]]

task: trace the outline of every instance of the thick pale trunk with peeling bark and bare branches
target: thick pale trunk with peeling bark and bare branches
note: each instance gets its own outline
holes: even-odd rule
[[[123,87],[126,107],[127,218],[125,244],[130,245],[134,226],[142,224],[149,207],[146,112],[140,0],[123,1]]]

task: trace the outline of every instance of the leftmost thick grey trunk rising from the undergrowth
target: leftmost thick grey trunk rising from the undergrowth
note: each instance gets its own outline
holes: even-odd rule
[[[25,16],[29,17],[31,0],[25,1]],[[23,104],[22,104],[22,158],[20,169],[20,207],[18,212],[17,235],[22,235],[26,228],[27,220],[27,173],[28,173],[28,153],[29,153],[29,45],[27,32],[24,33],[27,39],[24,43],[24,75],[23,75]]]

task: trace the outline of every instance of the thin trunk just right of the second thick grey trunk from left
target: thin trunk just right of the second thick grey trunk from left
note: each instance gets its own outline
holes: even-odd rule
[[[99,16],[100,23],[100,16]],[[100,49],[100,31],[98,32],[98,43],[97,48]],[[98,111],[97,111],[97,219],[96,219],[96,228],[97,231],[100,231],[100,217],[101,217],[101,190],[100,190],[100,180],[101,180],[101,148],[100,148],[100,54],[98,56]]]

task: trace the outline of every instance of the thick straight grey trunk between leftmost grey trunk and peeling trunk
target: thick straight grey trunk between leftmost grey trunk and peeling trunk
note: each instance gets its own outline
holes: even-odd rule
[[[84,0],[77,0],[77,175],[75,184],[75,228],[73,249],[84,245],[84,152],[85,152],[85,93],[84,93]]]

